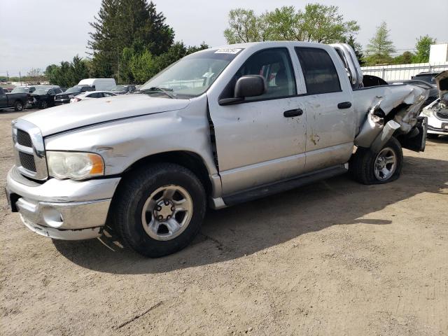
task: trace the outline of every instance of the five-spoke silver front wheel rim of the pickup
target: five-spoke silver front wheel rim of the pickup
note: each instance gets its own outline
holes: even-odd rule
[[[181,186],[163,186],[146,200],[141,223],[149,237],[171,240],[186,230],[193,216],[193,200]]]

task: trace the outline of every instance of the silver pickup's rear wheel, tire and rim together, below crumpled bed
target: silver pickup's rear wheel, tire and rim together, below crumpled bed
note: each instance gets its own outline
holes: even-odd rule
[[[363,184],[388,183],[400,176],[402,161],[401,145],[391,137],[378,153],[372,153],[370,148],[358,148],[349,162],[349,172]]]

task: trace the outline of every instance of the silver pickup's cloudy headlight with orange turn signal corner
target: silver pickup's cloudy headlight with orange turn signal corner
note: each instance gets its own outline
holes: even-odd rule
[[[104,175],[103,158],[94,153],[47,153],[48,173],[57,179],[83,180]]]

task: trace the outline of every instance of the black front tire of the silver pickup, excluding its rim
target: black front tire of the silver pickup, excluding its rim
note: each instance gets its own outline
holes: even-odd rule
[[[148,197],[155,190],[168,185],[181,186],[193,200],[193,214],[181,234],[171,240],[160,241],[144,230],[141,214]],[[158,163],[142,167],[125,177],[111,204],[110,221],[125,245],[150,258],[158,258],[185,248],[199,232],[207,207],[204,186],[190,170],[172,163]]]

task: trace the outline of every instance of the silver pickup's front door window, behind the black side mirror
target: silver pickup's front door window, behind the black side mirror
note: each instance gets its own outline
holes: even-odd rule
[[[235,83],[246,75],[263,76],[267,83],[265,94],[246,97],[245,101],[276,99],[297,94],[290,55],[286,48],[271,48],[255,52],[237,71],[221,97],[234,97]]]

